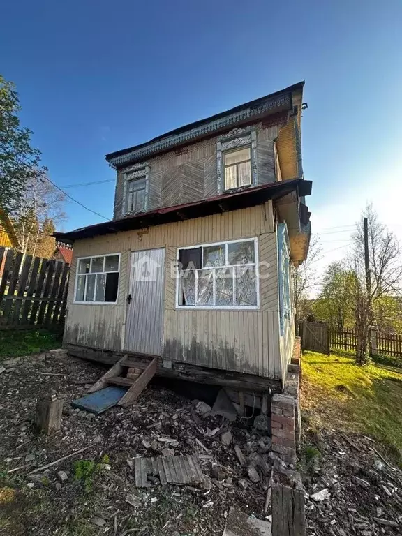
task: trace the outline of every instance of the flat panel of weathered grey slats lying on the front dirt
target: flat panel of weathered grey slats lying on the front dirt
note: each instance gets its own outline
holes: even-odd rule
[[[134,471],[137,488],[151,486],[148,475],[157,477],[161,484],[202,484],[205,480],[195,455],[135,458]]]

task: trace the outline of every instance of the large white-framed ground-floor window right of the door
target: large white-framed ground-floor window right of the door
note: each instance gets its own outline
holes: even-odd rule
[[[257,239],[179,248],[177,307],[258,308]]]

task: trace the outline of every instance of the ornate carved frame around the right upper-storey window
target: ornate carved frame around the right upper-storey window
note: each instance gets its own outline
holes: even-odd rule
[[[251,147],[251,184],[241,188],[257,186],[257,131],[255,128],[234,128],[232,131],[218,137],[216,141],[216,167],[218,171],[218,193],[228,192],[225,190],[225,173],[223,170],[223,154],[241,147]],[[233,188],[233,190],[238,188]]]

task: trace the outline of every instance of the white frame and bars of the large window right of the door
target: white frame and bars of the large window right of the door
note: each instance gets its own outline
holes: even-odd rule
[[[254,256],[255,256],[255,262],[248,263],[246,265],[229,265],[229,266],[214,266],[211,268],[219,269],[219,268],[228,268],[228,267],[244,267],[244,266],[255,266],[255,272],[256,275],[258,275],[258,238],[243,238],[238,240],[226,240],[226,241],[219,241],[219,242],[211,242],[208,244],[197,244],[194,246],[183,246],[177,248],[176,252],[176,262],[179,262],[179,251],[181,249],[194,249],[194,248],[207,248],[209,246],[221,246],[222,244],[237,244],[239,242],[254,242]],[[203,252],[202,252],[203,255]],[[207,270],[208,268],[202,268]],[[180,280],[180,274],[179,269],[177,269],[176,273],[176,299],[175,299],[175,308],[176,309],[186,309],[189,311],[205,311],[211,310],[211,311],[258,311],[260,309],[260,279],[257,277],[257,304],[256,305],[219,305],[219,306],[213,306],[213,305],[179,305],[179,280]],[[236,280],[234,279],[234,287],[236,286]],[[198,278],[195,277],[195,285],[198,284]],[[215,283],[214,283],[215,285]],[[214,295],[215,295],[215,288],[214,288]]]

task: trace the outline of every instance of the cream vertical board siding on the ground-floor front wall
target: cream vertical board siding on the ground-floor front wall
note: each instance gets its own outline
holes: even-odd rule
[[[141,239],[140,239],[141,237]],[[170,263],[180,246],[258,237],[260,311],[180,310],[175,308],[176,280]],[[145,234],[120,232],[75,242],[74,255],[121,253],[116,305],[73,304],[68,295],[65,340],[107,349],[124,349],[124,325],[130,251],[166,248],[164,356],[178,362],[281,378],[278,336],[277,248],[271,203],[205,218],[149,228]],[[76,260],[71,267],[75,281]]]

